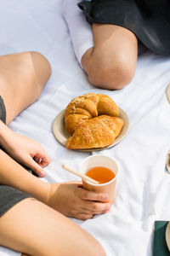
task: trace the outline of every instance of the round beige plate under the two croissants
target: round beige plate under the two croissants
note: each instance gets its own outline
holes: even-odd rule
[[[120,143],[127,135],[127,131],[129,130],[129,119],[127,116],[127,113],[125,113],[122,108],[119,108],[119,117],[124,120],[124,125],[122,127],[122,131],[119,134],[118,137],[116,137],[114,143],[112,143],[110,146],[105,148],[111,148],[115,146],[117,143]],[[58,140],[59,143],[61,143],[63,146],[66,145],[66,141],[71,135],[65,130],[65,110],[62,110],[59,112],[59,114],[55,117],[52,130],[54,133],[54,137]],[[88,149],[76,149],[77,151],[99,151],[103,150],[105,148],[88,148]],[[74,149],[75,150],[75,149]]]

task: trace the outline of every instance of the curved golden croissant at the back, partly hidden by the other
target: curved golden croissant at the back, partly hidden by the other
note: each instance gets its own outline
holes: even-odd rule
[[[109,96],[96,93],[78,96],[65,109],[65,129],[73,135],[80,124],[102,114],[119,116],[119,108]]]

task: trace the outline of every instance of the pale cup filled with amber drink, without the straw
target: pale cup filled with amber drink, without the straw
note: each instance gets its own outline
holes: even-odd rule
[[[99,182],[99,184],[94,184],[82,180],[84,189],[105,193],[108,195],[109,201],[114,201],[118,174],[115,160],[101,154],[89,156],[82,161],[80,172]]]

